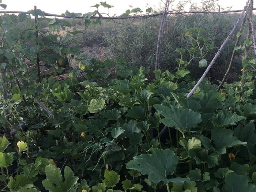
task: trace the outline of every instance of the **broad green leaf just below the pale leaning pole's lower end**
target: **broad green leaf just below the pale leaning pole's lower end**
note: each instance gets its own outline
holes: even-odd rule
[[[180,109],[173,106],[168,108],[163,105],[154,105],[154,108],[165,117],[161,120],[163,124],[168,127],[175,127],[181,132],[197,127],[197,124],[202,121],[201,114],[193,112],[191,109]]]

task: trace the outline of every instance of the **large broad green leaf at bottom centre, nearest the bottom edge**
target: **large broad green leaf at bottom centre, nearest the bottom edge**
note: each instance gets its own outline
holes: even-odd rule
[[[169,149],[160,150],[152,149],[151,154],[142,154],[133,157],[134,159],[127,163],[127,169],[134,169],[148,175],[150,182],[158,183],[163,181],[165,184],[169,182],[167,176],[176,170],[178,157]]]

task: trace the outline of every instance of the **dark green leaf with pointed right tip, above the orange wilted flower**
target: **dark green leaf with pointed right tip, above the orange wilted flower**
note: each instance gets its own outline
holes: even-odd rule
[[[234,137],[231,129],[215,128],[211,131],[211,138],[219,154],[226,153],[227,147],[246,144],[246,142],[241,142],[237,137]]]

